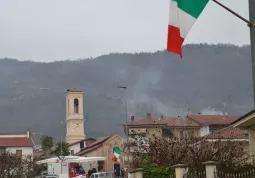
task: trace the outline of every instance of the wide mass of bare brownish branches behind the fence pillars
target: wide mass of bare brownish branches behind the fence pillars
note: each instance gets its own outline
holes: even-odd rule
[[[137,144],[137,143],[132,143]],[[133,153],[134,165],[141,166],[149,159],[161,167],[184,163],[196,169],[203,168],[203,162],[216,161],[219,168],[236,169],[247,165],[249,154],[247,142],[208,141],[205,138],[154,138],[143,151]]]

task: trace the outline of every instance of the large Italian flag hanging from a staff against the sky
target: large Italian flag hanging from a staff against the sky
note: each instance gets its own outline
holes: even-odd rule
[[[209,0],[170,0],[167,50],[182,57],[182,44]]]

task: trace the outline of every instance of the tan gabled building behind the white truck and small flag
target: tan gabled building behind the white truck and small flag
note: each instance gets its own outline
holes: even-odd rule
[[[89,168],[104,168],[105,171],[113,171],[114,162],[113,162],[113,148],[119,147],[121,150],[124,149],[122,138],[115,134],[106,137],[99,138],[97,141],[92,142],[90,145],[87,145],[84,149],[76,153],[76,156],[87,156],[87,157],[106,157],[105,161],[98,161],[97,163],[91,163],[88,167],[87,164],[84,164],[83,167],[87,171]],[[98,164],[98,165],[97,165]],[[123,163],[120,163],[123,166]]]

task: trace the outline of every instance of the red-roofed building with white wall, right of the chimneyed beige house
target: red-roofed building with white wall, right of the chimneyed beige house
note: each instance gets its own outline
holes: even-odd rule
[[[229,126],[239,116],[196,114],[188,115],[187,118],[193,119],[201,125],[199,136],[202,137]]]

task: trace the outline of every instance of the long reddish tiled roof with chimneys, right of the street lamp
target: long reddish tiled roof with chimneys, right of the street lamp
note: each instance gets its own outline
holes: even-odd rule
[[[184,118],[184,117],[166,117],[166,118],[145,118],[142,120],[130,121],[130,126],[138,126],[138,125],[162,125],[169,127],[200,127],[199,123],[192,119]]]

